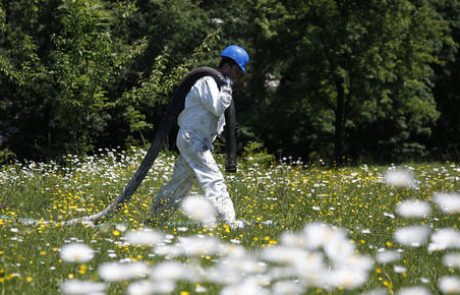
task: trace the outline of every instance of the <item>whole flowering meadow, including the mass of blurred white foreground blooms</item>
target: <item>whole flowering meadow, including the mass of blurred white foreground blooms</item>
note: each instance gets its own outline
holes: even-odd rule
[[[408,186],[391,186],[384,181],[389,167],[330,169],[290,159],[265,167],[242,161],[238,173],[226,175],[226,179],[237,217],[248,222],[245,228],[232,230],[225,224],[204,227],[191,222],[178,210],[163,227],[153,229],[162,235],[161,243],[136,246],[126,236],[142,230],[153,197],[172,173],[174,155],[162,154],[131,201],[112,219],[98,225],[59,224],[102,210],[123,189],[143,155],[142,150],[129,153],[105,150],[86,158],[68,156],[59,164],[28,162],[1,167],[0,294],[86,292],[83,287],[80,293],[62,289],[63,282],[69,281],[100,283],[101,290],[88,291],[89,294],[460,292],[455,280],[460,275],[458,265],[445,262],[447,254],[455,256],[460,248],[455,240],[460,215],[455,210],[446,214],[433,201],[436,192],[460,191],[457,164],[401,165],[398,168],[412,174],[413,181]],[[219,161],[223,163],[223,159]],[[398,214],[398,204],[413,199],[429,204],[427,214],[418,218]],[[40,222],[19,222],[23,218]],[[308,224],[313,227],[308,228]],[[311,234],[316,225],[321,225],[319,232],[330,235],[315,246],[312,243],[316,237]],[[414,239],[419,243],[412,245],[398,242],[395,232],[412,225],[424,225],[428,236],[416,234]],[[446,228],[452,230],[449,238],[455,241],[442,244],[444,248],[429,250],[430,244],[436,242],[434,234]],[[310,229],[313,231],[309,232]],[[330,236],[340,238],[334,240]],[[187,250],[192,247],[194,237],[203,241],[202,247]],[[327,239],[332,244],[340,241],[340,245],[327,244],[324,242]],[[71,243],[87,245],[94,257],[84,262],[66,261],[61,250],[63,245]],[[181,243],[182,254],[174,254],[172,247],[177,250]],[[329,247],[341,245],[348,250]],[[348,253],[350,249],[352,253]],[[343,251],[359,261],[356,267],[361,267],[360,277],[353,276],[350,264],[346,268],[339,266],[337,261],[342,260],[334,255],[340,256]],[[320,269],[334,269],[329,278],[316,276],[312,265],[318,259]],[[149,270],[143,274],[140,271],[141,274],[130,279],[107,281],[100,266],[109,262],[139,262]],[[170,268],[158,270],[165,265]],[[197,275],[188,278],[171,267],[177,265],[189,270],[188,275]],[[348,279],[339,283],[327,281],[340,277],[338,274]],[[442,284],[442,278],[451,280]],[[163,286],[160,281],[171,284]],[[145,288],[129,287],[136,282],[144,282],[145,285],[139,286]],[[152,286],[155,284],[164,289],[155,289]]]

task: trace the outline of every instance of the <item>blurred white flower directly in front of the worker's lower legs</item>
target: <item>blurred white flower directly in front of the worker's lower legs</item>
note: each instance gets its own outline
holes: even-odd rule
[[[206,225],[215,223],[216,209],[200,196],[189,196],[182,202],[182,210],[191,219]]]

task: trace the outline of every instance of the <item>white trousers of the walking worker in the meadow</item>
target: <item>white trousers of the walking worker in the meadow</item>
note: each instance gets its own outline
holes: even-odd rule
[[[211,153],[211,144],[189,132],[179,129],[176,140],[180,156],[177,159],[171,180],[164,185],[152,205],[152,217],[159,222],[165,221],[191,190],[195,180],[216,208],[220,218],[232,224],[235,222],[235,210],[232,200]]]

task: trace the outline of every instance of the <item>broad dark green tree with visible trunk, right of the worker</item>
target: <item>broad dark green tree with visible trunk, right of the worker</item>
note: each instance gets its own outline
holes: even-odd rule
[[[297,144],[299,154],[305,146],[313,155],[334,151],[338,164],[346,156],[421,155],[420,137],[439,115],[430,65],[449,41],[446,22],[430,4],[263,2],[258,46],[272,50],[260,64],[270,61],[281,80],[266,101],[264,116],[281,121],[267,141]]]

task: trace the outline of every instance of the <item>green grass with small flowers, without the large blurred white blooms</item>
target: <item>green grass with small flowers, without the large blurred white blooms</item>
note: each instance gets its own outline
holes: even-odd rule
[[[86,159],[69,157],[65,166],[31,162],[2,167],[0,214],[9,219],[0,220],[0,294],[59,294],[59,284],[69,278],[100,281],[97,267],[103,262],[130,258],[154,266],[163,261],[162,257],[152,257],[150,249],[123,245],[123,233],[116,225],[125,224],[129,229],[141,227],[155,193],[171,176],[172,155],[162,155],[157,160],[131,202],[102,226],[35,226],[15,221],[18,217],[59,221],[95,213],[118,195],[141,159],[140,152],[110,151]],[[223,225],[209,230],[191,224],[183,232],[178,228],[184,227],[187,218],[178,211],[171,223],[160,230],[176,239],[200,233],[227,243],[238,240],[249,251],[256,252],[278,244],[283,232],[300,231],[306,223],[326,222],[346,229],[360,254],[373,258],[378,249],[402,250],[402,258],[397,262],[386,265],[374,262],[367,282],[358,289],[314,287],[306,291],[311,294],[359,294],[376,288],[385,288],[391,294],[407,286],[424,286],[437,294],[440,277],[459,275],[457,269],[442,265],[446,251],[428,253],[426,245],[410,248],[398,245],[393,239],[398,227],[411,224],[427,224],[433,230],[458,228],[459,215],[443,215],[433,203],[428,218],[404,219],[395,213],[397,203],[402,200],[417,198],[431,202],[434,192],[458,192],[458,165],[403,165],[414,171],[418,189],[383,184],[381,176],[388,168],[383,166],[342,169],[288,164],[263,167],[241,163],[240,166],[236,175],[226,176],[237,217],[273,224],[257,223],[238,231],[229,231]],[[384,213],[396,216],[391,218]],[[59,250],[70,240],[89,245],[96,251],[95,258],[86,264],[63,262]],[[109,253],[115,253],[116,257],[109,257]],[[213,259],[216,258],[203,257],[201,263],[212,265]],[[395,265],[404,266],[407,271],[396,273]],[[128,284],[111,283],[107,293],[125,294]],[[219,293],[221,288],[201,285],[207,287],[208,293]],[[195,283],[181,282],[175,292],[192,294],[195,287]]]

